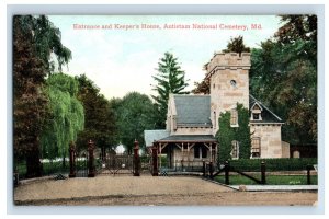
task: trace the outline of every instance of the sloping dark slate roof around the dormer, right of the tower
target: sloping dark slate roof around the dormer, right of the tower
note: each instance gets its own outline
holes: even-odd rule
[[[254,96],[249,94],[249,110],[251,111],[251,107],[258,103],[262,107],[262,120],[250,120],[252,124],[264,124],[264,123],[279,123],[283,124],[284,122],[275,115],[270,108],[268,108],[262,102],[258,101]]]

